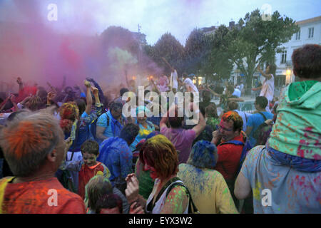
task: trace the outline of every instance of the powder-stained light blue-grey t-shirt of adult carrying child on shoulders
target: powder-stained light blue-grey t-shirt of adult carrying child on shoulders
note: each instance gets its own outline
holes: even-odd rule
[[[320,172],[302,172],[280,165],[265,146],[254,147],[241,171],[250,182],[254,213],[320,213]]]

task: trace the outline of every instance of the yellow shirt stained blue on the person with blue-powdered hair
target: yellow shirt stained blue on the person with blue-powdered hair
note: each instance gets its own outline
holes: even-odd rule
[[[230,190],[220,172],[180,164],[178,177],[185,183],[201,214],[237,214]]]

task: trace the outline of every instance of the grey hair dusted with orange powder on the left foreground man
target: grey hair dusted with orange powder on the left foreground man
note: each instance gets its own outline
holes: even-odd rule
[[[0,135],[4,156],[15,176],[31,175],[44,164],[63,133],[58,120],[48,113],[33,113],[7,123]]]

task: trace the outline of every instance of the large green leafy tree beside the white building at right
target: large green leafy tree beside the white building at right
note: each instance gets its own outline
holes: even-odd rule
[[[256,9],[238,21],[238,25],[225,36],[223,50],[238,69],[245,74],[247,86],[251,86],[256,67],[270,61],[274,63],[278,47],[290,40],[299,31],[295,21],[280,16],[275,11],[270,21],[263,21]]]

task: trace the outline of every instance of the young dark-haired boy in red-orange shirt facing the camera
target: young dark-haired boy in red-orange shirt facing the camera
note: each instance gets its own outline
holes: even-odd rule
[[[78,171],[78,195],[85,198],[85,186],[91,177],[95,175],[103,175],[103,177],[110,177],[110,172],[106,165],[97,162],[96,158],[99,155],[98,142],[94,140],[86,140],[81,145],[82,161],[64,162],[63,167],[69,171]]]

